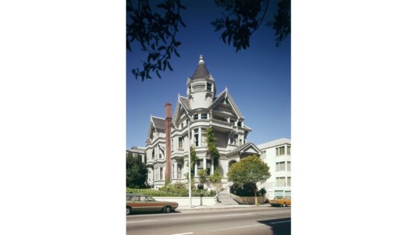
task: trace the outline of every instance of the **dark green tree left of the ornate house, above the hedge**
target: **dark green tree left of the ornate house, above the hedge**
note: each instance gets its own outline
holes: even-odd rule
[[[129,188],[145,188],[147,181],[147,168],[145,163],[133,156],[131,152],[126,154],[126,186]]]

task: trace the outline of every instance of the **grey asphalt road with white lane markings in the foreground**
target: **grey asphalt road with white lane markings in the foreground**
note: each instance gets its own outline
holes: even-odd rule
[[[126,234],[291,234],[291,208],[250,207],[126,216]]]

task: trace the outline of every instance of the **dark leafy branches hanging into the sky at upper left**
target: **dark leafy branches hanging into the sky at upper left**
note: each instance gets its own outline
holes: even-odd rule
[[[165,71],[166,67],[172,71],[169,61],[172,54],[179,57],[177,47],[181,44],[175,40],[175,35],[179,24],[186,27],[179,14],[186,7],[181,5],[180,0],[165,0],[156,8],[153,12],[149,0],[137,0],[135,4],[126,0],[126,15],[129,16],[126,22],[126,49],[132,51],[131,43],[137,41],[141,50],[147,53],[143,68],[132,70],[135,78],[140,76],[142,81],[152,79],[149,72],[156,72],[161,79],[159,71]]]

